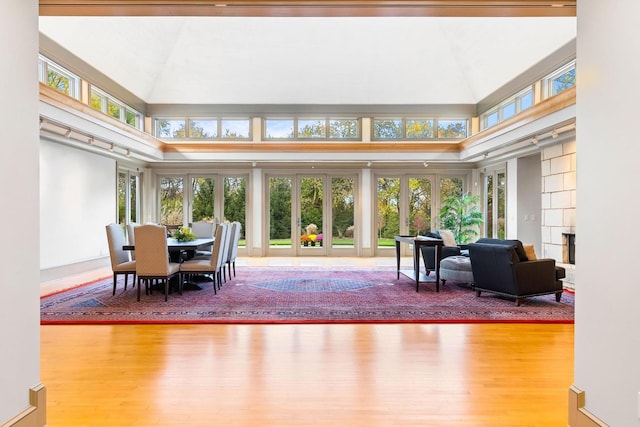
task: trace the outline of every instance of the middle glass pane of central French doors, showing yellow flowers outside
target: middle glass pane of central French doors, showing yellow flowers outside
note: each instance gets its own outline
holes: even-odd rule
[[[323,186],[324,180],[322,178],[300,179],[301,246],[322,246],[323,244]]]

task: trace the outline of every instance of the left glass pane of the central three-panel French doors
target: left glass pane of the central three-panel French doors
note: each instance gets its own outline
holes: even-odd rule
[[[269,178],[269,246],[291,247],[291,178]]]

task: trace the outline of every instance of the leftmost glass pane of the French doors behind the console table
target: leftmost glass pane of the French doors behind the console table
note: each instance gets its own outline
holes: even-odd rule
[[[378,178],[378,247],[394,247],[400,234],[400,179]]]

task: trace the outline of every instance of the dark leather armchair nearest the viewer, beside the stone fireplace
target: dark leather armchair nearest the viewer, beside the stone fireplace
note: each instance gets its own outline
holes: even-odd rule
[[[476,296],[483,291],[513,297],[555,294],[560,302],[565,276],[554,259],[529,261],[519,240],[480,239],[468,245]]]

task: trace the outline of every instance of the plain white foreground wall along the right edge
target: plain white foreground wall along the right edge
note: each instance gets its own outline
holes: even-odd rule
[[[624,427],[640,426],[638,16],[637,0],[578,2],[574,384]]]

